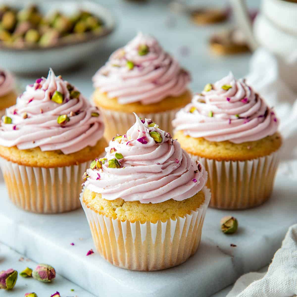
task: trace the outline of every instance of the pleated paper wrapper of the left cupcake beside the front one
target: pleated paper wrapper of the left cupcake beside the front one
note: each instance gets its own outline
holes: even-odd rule
[[[29,167],[0,158],[12,203],[26,211],[42,214],[80,208],[78,197],[88,166],[89,162],[56,168]]]

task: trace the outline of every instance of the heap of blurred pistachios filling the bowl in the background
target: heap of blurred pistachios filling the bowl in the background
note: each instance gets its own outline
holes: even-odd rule
[[[100,34],[104,24],[87,11],[66,15],[58,10],[43,15],[36,5],[21,10],[0,7],[0,44],[7,47],[48,47]]]

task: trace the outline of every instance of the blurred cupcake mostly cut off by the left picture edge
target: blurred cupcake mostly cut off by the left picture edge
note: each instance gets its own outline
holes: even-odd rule
[[[0,117],[4,116],[6,108],[15,105],[17,97],[12,74],[0,69]]]

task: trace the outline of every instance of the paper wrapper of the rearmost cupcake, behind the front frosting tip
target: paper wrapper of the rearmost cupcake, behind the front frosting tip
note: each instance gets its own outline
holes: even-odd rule
[[[124,135],[130,127],[135,123],[135,116],[133,113],[124,113],[113,110],[101,108],[104,122],[106,139],[110,140],[117,134]],[[172,134],[171,122],[175,118],[179,109],[173,109],[160,113],[137,113],[141,119],[152,119],[159,127]],[[172,134],[173,135],[173,134]]]

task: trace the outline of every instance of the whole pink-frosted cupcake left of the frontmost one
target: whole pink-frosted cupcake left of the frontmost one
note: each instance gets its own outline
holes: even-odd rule
[[[81,175],[104,152],[100,112],[50,69],[6,110],[0,166],[12,202],[24,210],[59,213],[80,207]]]

